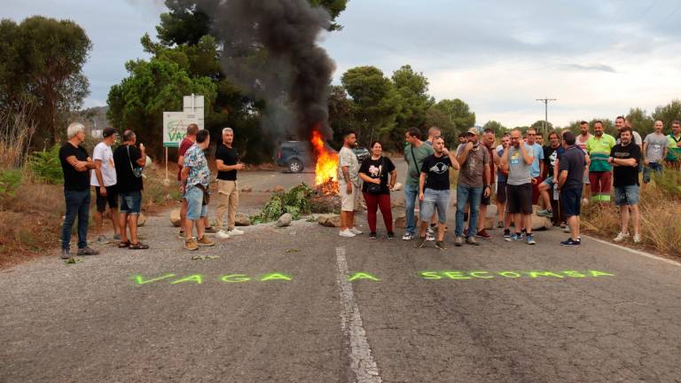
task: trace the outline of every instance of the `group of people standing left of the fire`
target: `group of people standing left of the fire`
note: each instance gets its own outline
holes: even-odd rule
[[[197,250],[200,246],[214,246],[207,238],[214,233],[216,238],[227,239],[244,234],[235,227],[235,215],[239,208],[237,172],[244,164],[232,147],[234,131],[223,129],[222,143],[215,152],[217,169],[217,216],[214,228],[208,223],[207,204],[210,199],[210,168],[205,151],[210,145],[210,134],[196,124],[187,127],[187,134],[180,144],[177,181],[182,196],[179,237],[184,239],[184,248]],[[121,143],[112,151],[118,134],[113,128],[102,131],[102,141],[95,146],[92,156],[84,148],[85,128],[81,123],[72,123],[67,128],[67,142],[59,149],[59,161],[64,174],[64,198],[66,215],[61,231],[61,258],[71,257],[71,230],[78,220],[77,255],[97,255],[99,252],[88,246],[90,219],[90,186],[96,196],[95,231],[98,241],[106,240],[102,234],[104,214],[108,206],[114,227],[114,240],[121,248],[144,250],[149,246],[139,241],[137,223],[142,208],[144,168],[147,157],[145,145],[137,145],[135,132],[123,132]],[[227,215],[227,223],[223,216]],[[196,235],[194,236],[194,232]]]

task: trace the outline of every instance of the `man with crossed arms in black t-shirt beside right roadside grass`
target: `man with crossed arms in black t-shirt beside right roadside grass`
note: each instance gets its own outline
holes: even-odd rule
[[[620,129],[620,144],[614,145],[607,160],[613,165],[614,204],[620,207],[622,230],[615,242],[629,238],[629,216],[634,224],[634,243],[641,242],[640,213],[638,211],[638,163],[641,149],[632,142],[630,127]]]

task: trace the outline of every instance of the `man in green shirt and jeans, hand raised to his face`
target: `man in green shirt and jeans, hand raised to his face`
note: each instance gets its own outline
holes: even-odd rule
[[[421,141],[421,132],[417,128],[410,128],[404,133],[407,145],[404,146],[404,160],[407,161],[407,176],[404,178],[404,210],[406,211],[406,228],[404,228],[403,240],[411,240],[416,237],[416,220],[414,219],[414,207],[419,197],[419,177],[423,160],[434,153],[431,145]]]

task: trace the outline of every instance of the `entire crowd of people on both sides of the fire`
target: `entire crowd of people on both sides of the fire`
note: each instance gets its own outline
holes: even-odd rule
[[[617,117],[617,137],[605,133],[602,121],[582,121],[580,134],[568,130],[544,137],[530,128],[525,136],[513,129],[496,137],[492,129],[468,129],[458,137],[458,146],[450,152],[449,143],[440,129],[428,129],[427,139],[421,139],[417,128],[405,135],[404,160],[407,172],[403,184],[405,227],[403,240],[415,240],[423,247],[427,241],[445,249],[444,233],[448,230],[447,216],[451,190],[455,191],[454,245],[479,246],[477,238],[492,238],[486,230],[489,205],[497,206],[497,228],[504,229],[509,242],[523,241],[535,245],[532,215],[552,219],[570,234],[560,242],[563,246],[580,246],[581,207],[593,203],[609,203],[614,186],[614,204],[620,208],[621,230],[614,241],[632,238],[641,241],[638,210],[639,173],[647,184],[654,173],[681,168],[681,122],[674,121],[668,135],[662,121],[654,122],[654,132],[644,139],[630,128],[624,117]],[[108,206],[114,227],[114,240],[119,247],[132,250],[149,248],[139,241],[137,220],[142,207],[143,170],[146,165],[145,146],[137,145],[135,132],[125,130],[121,144],[116,144],[115,129],[106,128],[102,141],[92,157],[83,147],[85,128],[73,123],[67,129],[67,142],[59,150],[64,174],[66,215],[61,232],[61,257],[70,257],[72,227],[78,220],[77,254],[95,255],[88,246],[90,186],[96,196],[95,231],[99,241],[104,213]],[[232,147],[234,131],[225,128],[222,142],[215,151],[217,169],[217,209],[214,228],[210,225],[207,205],[210,199],[211,173],[206,150],[210,134],[196,124],[187,127],[179,145],[177,182],[182,196],[179,237],[184,248],[197,250],[214,246],[207,238],[227,239],[244,234],[235,225],[239,208],[238,171],[245,168],[239,153]],[[351,238],[362,234],[355,225],[358,198],[364,197],[370,238],[377,238],[378,211],[383,217],[387,238],[395,238],[390,193],[397,181],[395,163],[382,153],[380,141],[372,142],[371,157],[359,164],[352,147],[356,135],[343,137],[339,152],[338,182],[340,188],[340,236]],[[458,173],[458,174],[456,174]],[[419,217],[415,215],[419,204]],[[534,206],[541,203],[544,208]],[[227,215],[227,222],[224,222]],[[417,227],[417,222],[419,226]],[[632,223],[633,234],[630,234]],[[513,223],[513,232],[511,230]],[[418,229],[418,233],[417,233]],[[196,235],[194,235],[194,232]]]

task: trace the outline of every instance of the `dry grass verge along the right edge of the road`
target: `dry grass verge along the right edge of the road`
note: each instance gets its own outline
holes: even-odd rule
[[[670,258],[681,259],[681,198],[663,191],[653,183],[640,189],[638,200],[643,238],[641,246]],[[596,205],[584,207],[582,223],[584,231],[612,240],[620,231],[619,208]],[[630,232],[633,232],[632,229]]]

